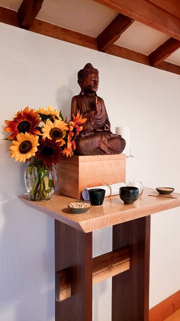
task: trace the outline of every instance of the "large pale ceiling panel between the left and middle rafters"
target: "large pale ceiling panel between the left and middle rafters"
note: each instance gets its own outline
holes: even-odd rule
[[[117,13],[92,0],[44,0],[37,19],[97,37]]]

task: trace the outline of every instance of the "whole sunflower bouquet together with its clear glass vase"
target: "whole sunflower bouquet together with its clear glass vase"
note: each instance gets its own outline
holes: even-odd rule
[[[82,130],[86,118],[77,112],[71,119],[63,119],[61,111],[47,106],[38,110],[28,107],[18,111],[13,120],[5,120],[4,130],[10,135],[10,157],[28,162],[25,185],[33,201],[48,200],[55,188],[54,165],[61,155],[71,156],[75,138]]]

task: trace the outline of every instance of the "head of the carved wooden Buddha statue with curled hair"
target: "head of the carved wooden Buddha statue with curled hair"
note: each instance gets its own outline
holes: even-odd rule
[[[80,95],[83,93],[95,94],[98,89],[98,70],[93,68],[90,63],[77,73],[77,82],[81,88]]]

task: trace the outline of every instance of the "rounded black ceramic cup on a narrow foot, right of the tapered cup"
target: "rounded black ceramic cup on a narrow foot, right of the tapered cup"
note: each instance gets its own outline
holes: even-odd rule
[[[119,197],[124,204],[132,204],[138,199],[139,190],[137,187],[124,186],[119,188]]]

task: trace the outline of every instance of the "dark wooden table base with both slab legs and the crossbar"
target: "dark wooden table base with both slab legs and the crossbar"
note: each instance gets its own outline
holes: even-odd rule
[[[91,321],[92,285],[112,277],[112,321],[147,321],[149,227],[113,226],[112,251],[92,258],[92,232],[55,220],[55,320]]]

